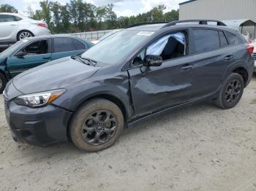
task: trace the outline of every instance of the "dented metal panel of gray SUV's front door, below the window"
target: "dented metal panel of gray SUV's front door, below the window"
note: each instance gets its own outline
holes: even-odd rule
[[[165,61],[162,66],[129,69],[132,103],[136,114],[189,101],[192,93],[189,56]]]

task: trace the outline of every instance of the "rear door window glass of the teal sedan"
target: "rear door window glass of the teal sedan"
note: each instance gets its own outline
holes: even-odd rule
[[[53,39],[53,52],[68,52],[74,51],[75,45],[72,39],[67,37],[59,37]]]

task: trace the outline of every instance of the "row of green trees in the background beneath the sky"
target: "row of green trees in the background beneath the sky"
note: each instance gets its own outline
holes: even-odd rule
[[[83,0],[70,0],[65,5],[60,4],[59,1],[43,0],[39,5],[41,9],[33,12],[29,7],[28,12],[31,12],[30,15],[35,20],[45,20],[53,34],[126,28],[135,23],[178,20],[178,10],[165,12],[166,7],[163,4],[149,12],[130,17],[117,17],[116,12],[113,11],[113,4],[96,7]],[[18,11],[9,4],[1,4],[0,12]]]

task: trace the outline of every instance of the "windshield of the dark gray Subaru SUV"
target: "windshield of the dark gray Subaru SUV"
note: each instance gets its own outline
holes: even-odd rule
[[[124,30],[109,36],[81,55],[99,63],[116,64],[141,42],[154,34],[152,31]]]

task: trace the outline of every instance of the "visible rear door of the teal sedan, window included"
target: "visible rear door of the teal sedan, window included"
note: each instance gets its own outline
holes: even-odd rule
[[[78,55],[86,50],[86,44],[69,37],[53,37],[52,44],[52,60]]]

